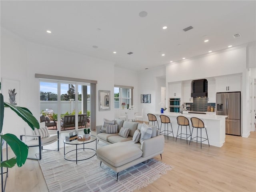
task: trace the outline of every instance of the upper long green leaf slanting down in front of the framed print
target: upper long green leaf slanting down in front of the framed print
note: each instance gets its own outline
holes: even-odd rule
[[[32,115],[30,110],[24,107],[18,107],[13,104],[4,102],[5,107],[10,107],[18,116],[20,116],[27,124],[34,130],[34,128],[39,129],[38,120]]]

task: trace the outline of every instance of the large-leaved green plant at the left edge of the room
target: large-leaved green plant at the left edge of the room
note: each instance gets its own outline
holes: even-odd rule
[[[25,122],[28,123],[32,130],[34,130],[35,128],[39,129],[39,123],[32,115],[30,110],[24,107],[18,107],[14,104],[4,102],[4,96],[2,95],[2,93],[0,94],[0,155],[2,154],[3,140],[5,140],[16,156],[6,161],[0,161],[0,167],[12,168],[15,164],[17,164],[18,167],[21,167],[26,162],[26,159],[28,157],[28,146],[24,144],[24,142],[22,142],[20,139],[18,139],[14,134],[2,134],[4,108],[10,108],[11,110],[13,110],[18,116],[20,116]]]

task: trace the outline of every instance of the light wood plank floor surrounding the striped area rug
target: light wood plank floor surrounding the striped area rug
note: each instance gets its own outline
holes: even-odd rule
[[[187,145],[185,140],[175,142],[169,137],[162,158],[172,170],[137,192],[256,191],[256,132],[249,138],[226,135],[221,148],[203,144],[200,149],[195,142]],[[6,192],[39,191],[48,190],[37,160],[9,169]]]

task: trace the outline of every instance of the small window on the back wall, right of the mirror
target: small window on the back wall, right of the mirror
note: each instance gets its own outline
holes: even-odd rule
[[[132,105],[132,92],[133,87],[128,86],[114,86],[114,108],[121,108],[122,103],[125,103],[125,107]]]

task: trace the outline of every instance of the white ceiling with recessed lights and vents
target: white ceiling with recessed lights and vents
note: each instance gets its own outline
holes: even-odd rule
[[[144,70],[254,42],[256,1],[1,0],[1,26],[30,42]]]

